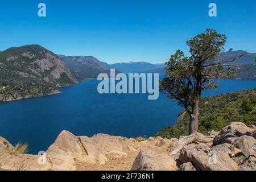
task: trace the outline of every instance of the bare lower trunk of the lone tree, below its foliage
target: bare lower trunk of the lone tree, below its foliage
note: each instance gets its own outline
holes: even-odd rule
[[[196,100],[195,104],[192,106],[192,113],[189,114],[189,135],[197,132],[199,119],[199,100]]]

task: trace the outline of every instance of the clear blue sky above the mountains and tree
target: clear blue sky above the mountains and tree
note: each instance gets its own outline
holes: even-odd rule
[[[38,4],[47,17],[39,18]],[[208,16],[210,2],[217,17]],[[256,52],[255,0],[9,0],[0,3],[0,50],[40,44],[63,55],[108,63],[169,59],[188,54],[187,39],[215,28],[228,36],[226,49]]]

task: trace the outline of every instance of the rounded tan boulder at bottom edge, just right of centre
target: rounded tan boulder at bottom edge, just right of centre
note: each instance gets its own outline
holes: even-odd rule
[[[143,149],[137,155],[131,171],[177,171],[176,161],[167,154]]]

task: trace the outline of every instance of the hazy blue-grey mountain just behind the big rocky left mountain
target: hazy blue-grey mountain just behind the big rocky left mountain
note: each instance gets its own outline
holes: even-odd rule
[[[67,67],[72,68],[82,79],[97,78],[100,73],[109,73],[109,65],[93,56],[58,56]]]

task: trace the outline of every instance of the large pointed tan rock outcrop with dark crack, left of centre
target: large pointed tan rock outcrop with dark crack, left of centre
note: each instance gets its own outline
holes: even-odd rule
[[[105,164],[106,155],[127,156],[118,137],[104,134],[92,138],[76,137],[69,131],[63,131],[46,153],[53,170],[76,170],[76,161]]]

